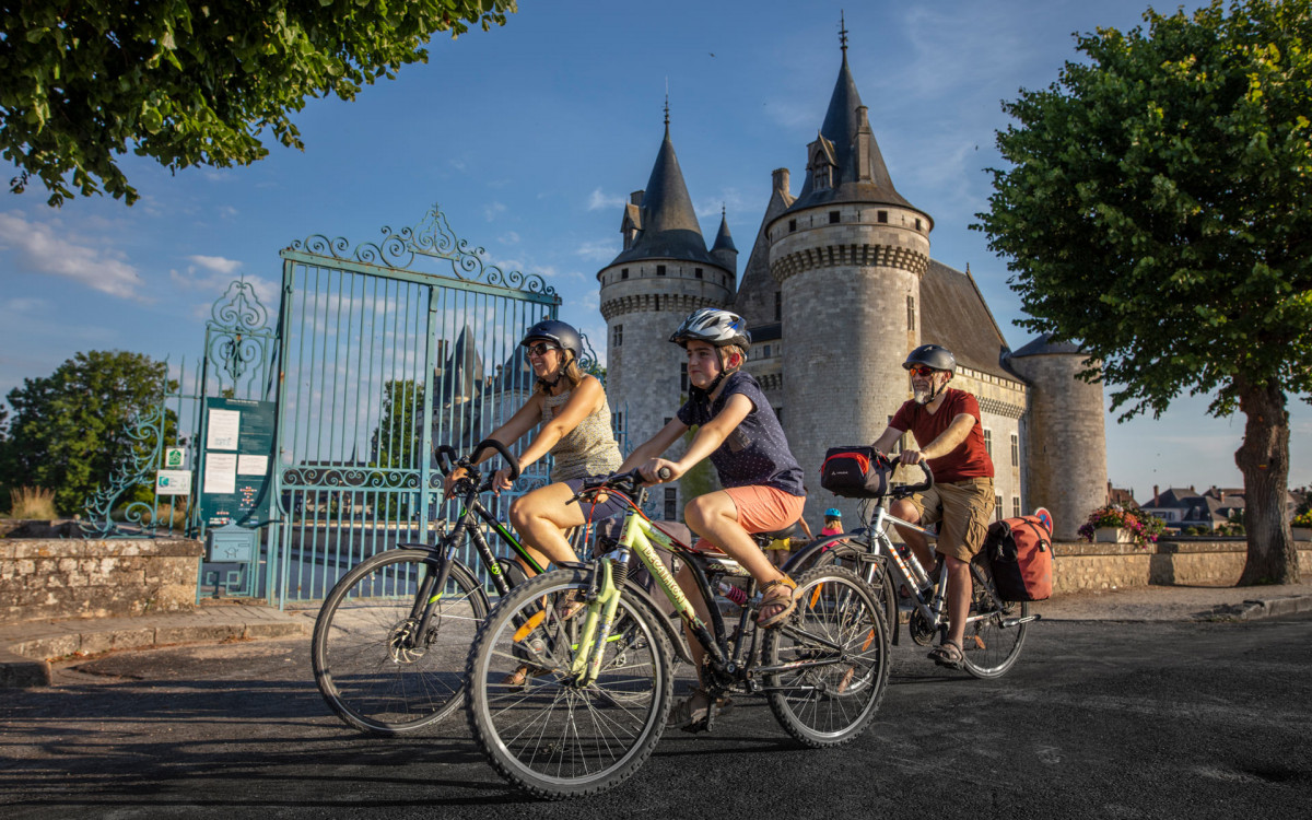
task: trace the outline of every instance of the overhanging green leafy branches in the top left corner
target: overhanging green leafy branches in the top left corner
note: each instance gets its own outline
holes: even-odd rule
[[[0,7],[0,154],[50,205],[136,190],[131,150],[169,169],[248,165],[268,129],[302,148],[289,113],[353,100],[426,62],[434,31],[504,25],[514,0],[72,0]],[[70,178],[71,177],[71,178]]]

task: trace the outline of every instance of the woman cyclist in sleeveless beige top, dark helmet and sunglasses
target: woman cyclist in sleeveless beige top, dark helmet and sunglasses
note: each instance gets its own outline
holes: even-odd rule
[[[546,560],[579,560],[564,537],[564,530],[583,526],[590,513],[594,521],[622,512],[618,501],[610,500],[593,509],[581,504],[568,504],[583,480],[606,476],[619,467],[619,446],[610,426],[610,405],[596,377],[579,369],[583,338],[564,321],[546,320],[529,328],[520,345],[529,357],[537,377],[533,395],[509,421],[488,436],[510,446],[529,430],[538,426],[537,437],[520,454],[520,467],[551,454],[551,484],[539,487],[510,504],[510,523],[520,539],[539,564]],[[485,450],[479,462],[492,458]],[[446,492],[464,475],[463,468],[446,476]],[[501,468],[493,476],[496,492],[510,488],[510,471]],[[527,572],[533,572],[525,567]]]

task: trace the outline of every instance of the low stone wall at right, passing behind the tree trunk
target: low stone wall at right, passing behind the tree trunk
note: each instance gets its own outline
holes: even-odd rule
[[[1312,542],[1298,542],[1299,572],[1312,573]],[[1244,541],[1162,541],[1148,548],[1118,543],[1055,543],[1052,594],[1160,585],[1233,585],[1244,571]]]

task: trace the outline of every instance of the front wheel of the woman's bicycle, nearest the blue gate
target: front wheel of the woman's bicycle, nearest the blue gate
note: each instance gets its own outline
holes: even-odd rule
[[[403,735],[441,720],[461,703],[464,656],[487,618],[487,598],[472,573],[451,565],[422,636],[415,636],[421,581],[442,559],[426,550],[379,552],[341,577],[328,593],[311,659],[328,706],[348,726]]]

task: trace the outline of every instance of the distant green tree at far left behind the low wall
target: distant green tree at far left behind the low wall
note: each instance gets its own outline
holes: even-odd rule
[[[157,405],[165,388],[176,386],[164,362],[123,352],[79,353],[50,377],[24,379],[8,396],[13,421],[0,483],[51,488],[62,513],[80,510],[140,446],[129,436],[130,422]],[[172,413],[167,425],[172,441]]]

